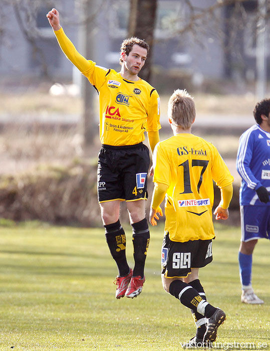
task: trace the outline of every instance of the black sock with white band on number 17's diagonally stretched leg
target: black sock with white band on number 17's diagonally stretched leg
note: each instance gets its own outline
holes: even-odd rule
[[[210,305],[199,295],[196,289],[181,280],[174,280],[171,282],[169,292],[171,295],[179,299],[184,306],[190,309],[195,308],[197,310],[198,304],[204,301],[204,315],[207,318],[210,318],[216,310],[214,306]]]

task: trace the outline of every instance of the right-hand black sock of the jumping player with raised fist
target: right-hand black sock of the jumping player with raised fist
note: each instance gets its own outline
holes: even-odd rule
[[[144,265],[150,241],[150,233],[146,218],[132,225],[133,257],[135,261],[133,277],[144,277]]]

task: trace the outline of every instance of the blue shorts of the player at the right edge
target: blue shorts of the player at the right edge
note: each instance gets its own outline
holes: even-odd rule
[[[270,239],[270,206],[240,206],[241,241]]]

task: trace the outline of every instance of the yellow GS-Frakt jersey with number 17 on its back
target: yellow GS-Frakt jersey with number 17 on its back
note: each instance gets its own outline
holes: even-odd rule
[[[233,182],[216,147],[193,134],[180,133],[156,145],[153,165],[153,181],[168,186],[165,232],[170,240],[212,239],[213,180],[219,188]]]

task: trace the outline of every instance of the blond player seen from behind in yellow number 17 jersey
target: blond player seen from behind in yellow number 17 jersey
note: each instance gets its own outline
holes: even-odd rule
[[[193,98],[176,90],[169,99],[168,119],[174,136],[161,141],[153,155],[155,183],[150,222],[156,225],[165,202],[165,233],[162,244],[162,283],[166,292],[189,307],[197,326],[187,346],[209,346],[225,313],[206,301],[199,268],[212,261],[214,228],[213,180],[221,191],[214,211],[217,220],[228,218],[233,178],[217,149],[191,134],[195,120]]]

